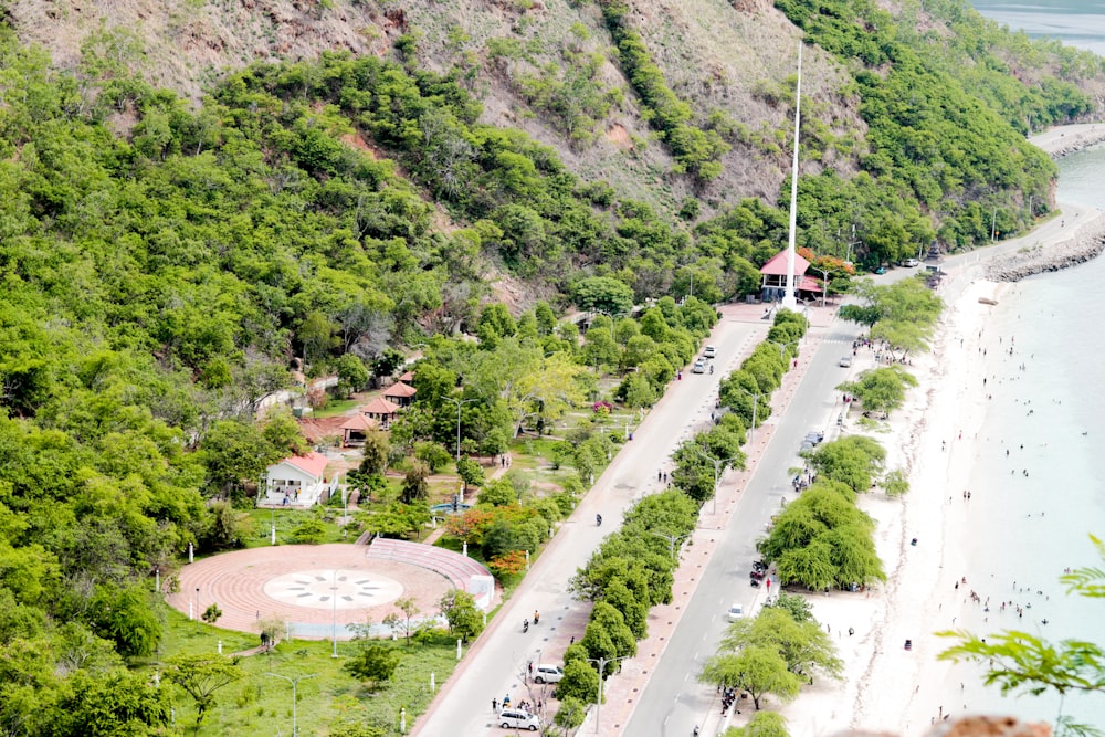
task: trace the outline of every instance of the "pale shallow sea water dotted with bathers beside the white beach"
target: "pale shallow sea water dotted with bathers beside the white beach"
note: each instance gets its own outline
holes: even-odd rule
[[[1105,148],[1062,159],[1059,199],[1105,210],[1099,172]],[[982,599],[957,624],[976,634],[1015,629],[1105,646],[1105,602],[1069,594],[1059,580],[1066,568],[1099,566],[1090,535],[1105,538],[1103,285],[1105,259],[1033,276],[1009,286],[986,319],[987,381],[969,388],[987,398],[986,412],[966,429],[977,432],[977,457],[967,489],[947,489],[949,513],[968,515],[971,528],[965,588]],[[1062,707],[1105,728],[1102,695],[1002,697],[976,681],[964,696],[970,713],[1052,722]]]

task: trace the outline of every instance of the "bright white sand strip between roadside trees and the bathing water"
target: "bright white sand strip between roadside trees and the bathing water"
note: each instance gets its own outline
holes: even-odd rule
[[[966,570],[955,555],[955,540],[966,534],[964,518],[955,514],[957,504],[964,503],[964,488],[950,480],[967,477],[985,401],[985,394],[967,390],[976,377],[981,386],[982,378],[978,331],[990,308],[978,297],[999,297],[1000,291],[1000,285],[976,282],[948,307],[933,351],[914,358],[911,367],[920,387],[906,407],[891,415],[887,434],[854,429],[883,443],[886,468],[904,468],[911,491],[902,499],[887,498],[881,489],[860,499],[861,508],[877,522],[876,547],[886,585],[870,593],[810,598],[818,621],[836,641],[845,677],[842,683],[819,680],[781,709],[791,734],[849,728],[919,734],[922,725],[927,727],[930,717],[940,714],[944,704],[933,702],[939,701],[937,691],[945,686],[938,689],[936,684],[950,683],[954,676],[949,664],[936,661],[949,643],[933,633],[953,627],[953,602],[961,600],[935,592],[954,592],[956,579]],[[872,352],[861,351],[860,359],[861,368],[874,367]],[[954,377],[948,376],[948,366],[955,367]],[[947,443],[945,451],[941,440]],[[914,537],[916,546],[911,545]],[[849,635],[849,628],[854,635]],[[904,647],[907,639],[909,651]],[[924,684],[919,692],[918,684]],[[945,708],[950,709],[950,703]]]

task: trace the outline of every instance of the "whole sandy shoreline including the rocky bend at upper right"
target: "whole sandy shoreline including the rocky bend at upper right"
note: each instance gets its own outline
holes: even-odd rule
[[[1087,135],[1105,130],[1105,126],[1086,128]],[[1070,138],[1051,131],[1044,143],[1052,152]],[[886,470],[903,468],[909,480],[911,491],[901,499],[873,489],[860,501],[861,508],[877,522],[876,546],[887,581],[866,593],[809,598],[818,621],[838,644],[845,677],[842,682],[819,680],[779,709],[790,734],[865,730],[912,737],[925,734],[946,715],[954,719],[971,713],[971,696],[983,688],[980,670],[937,661],[951,641],[935,633],[964,627],[974,631],[1000,628],[985,624],[988,617],[982,602],[971,601],[976,586],[980,597],[988,597],[989,591],[983,581],[976,585],[976,575],[981,578],[981,572],[964,552],[970,535],[967,480],[978,456],[977,431],[987,401],[982,351],[998,340],[986,331],[992,307],[979,298],[1000,301],[1008,288],[986,278],[996,260],[1008,266],[1023,254],[1025,261],[1036,260],[1033,271],[1048,271],[1036,267],[1041,254],[1060,254],[1067,263],[1066,251],[1101,241],[1105,218],[1098,211],[1063,209],[1066,224],[1053,236],[1041,239],[1033,233],[1019,239],[1022,243],[986,249],[948,269],[940,288],[946,309],[932,350],[914,356],[909,369],[919,386],[906,406],[892,414],[885,432],[865,432],[886,449]],[[861,350],[857,367],[874,366],[873,351]],[[844,430],[861,432],[849,425]],[[907,640],[909,650],[905,649]]]

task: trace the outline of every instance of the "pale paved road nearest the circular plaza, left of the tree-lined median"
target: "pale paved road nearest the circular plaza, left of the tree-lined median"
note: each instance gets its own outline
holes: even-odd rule
[[[724,312],[724,310],[723,310]],[[744,310],[747,314],[747,309]],[[732,310],[730,310],[732,314]],[[473,652],[444,684],[414,734],[428,737],[504,734],[493,726],[492,698],[511,694],[513,703],[534,701],[522,673],[533,661],[561,662],[571,636],[581,636],[590,606],[572,599],[568,581],[587,562],[602,538],[621,522],[622,512],[640,496],[659,488],[656,472],[693,431],[709,423],[717,383],[764,339],[767,320],[738,322],[723,317],[711,343],[717,347],[713,375],[683,373],[634,431],[579,508],[556,535],[525,582],[490,623]],[[666,466],[665,466],[666,467]],[[603,517],[596,527],[594,515]],[[522,620],[540,612],[540,623],[522,632]]]

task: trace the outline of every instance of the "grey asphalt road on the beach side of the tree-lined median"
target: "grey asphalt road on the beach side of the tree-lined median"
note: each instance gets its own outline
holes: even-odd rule
[[[794,498],[790,470],[801,465],[797,450],[802,438],[813,429],[824,430],[828,439],[835,433],[842,406],[834,387],[855,370],[836,365],[841,356],[851,354],[859,331],[855,326],[838,322],[812,333],[819,331],[821,340],[812,348],[811,364],[786,412],[772,418],[776,427],[770,441],[622,734],[683,737],[691,735],[695,725],[718,722],[717,695],[714,688],[697,683],[697,674],[716,651],[728,624],[725,613],[729,604],[744,604],[748,615],[766,597],[765,589],[754,589],[748,582],[751,561],[758,557],[756,540],[781,501]],[[704,729],[702,734],[714,733]]]

